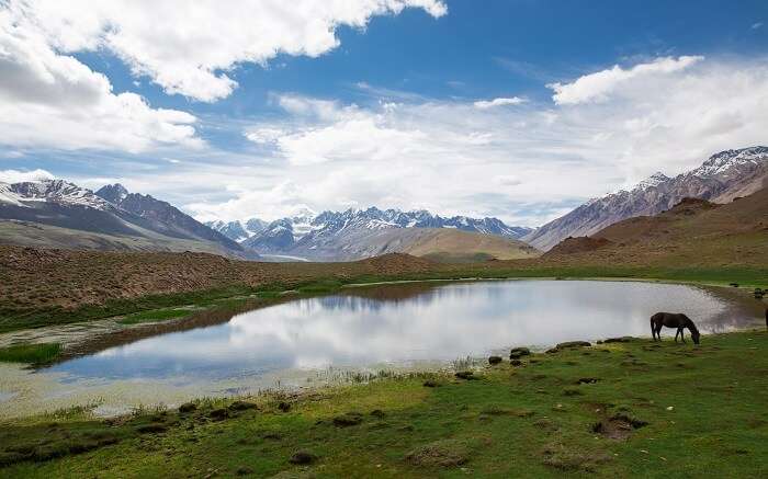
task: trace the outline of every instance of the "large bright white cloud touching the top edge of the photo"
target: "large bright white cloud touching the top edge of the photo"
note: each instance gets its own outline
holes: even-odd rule
[[[168,93],[213,102],[237,87],[239,64],[279,54],[317,57],[339,45],[340,25],[363,28],[372,16],[419,8],[439,18],[440,0],[36,0],[11,4],[66,52],[108,48],[137,76]],[[160,19],[160,20],[159,20]]]

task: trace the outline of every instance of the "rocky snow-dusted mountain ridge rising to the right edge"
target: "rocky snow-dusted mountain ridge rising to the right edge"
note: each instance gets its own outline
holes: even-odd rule
[[[549,250],[567,237],[589,236],[633,216],[656,215],[685,197],[727,203],[767,186],[767,147],[726,150],[675,178],[657,172],[631,190],[590,199],[526,235],[522,240],[540,250]]]

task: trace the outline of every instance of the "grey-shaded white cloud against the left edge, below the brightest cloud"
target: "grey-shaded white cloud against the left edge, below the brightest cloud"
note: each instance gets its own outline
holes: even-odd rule
[[[0,8],[0,144],[132,152],[199,147],[194,122],[134,93],[114,94],[106,77],[56,53],[34,24]]]

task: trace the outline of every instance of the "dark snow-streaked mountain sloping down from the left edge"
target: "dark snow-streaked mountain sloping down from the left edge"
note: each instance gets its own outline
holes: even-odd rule
[[[151,196],[64,180],[0,183],[0,241],[55,248],[206,251],[255,256]]]

